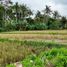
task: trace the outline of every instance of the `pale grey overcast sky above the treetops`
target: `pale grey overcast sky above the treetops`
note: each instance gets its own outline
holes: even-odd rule
[[[67,0],[12,0],[27,4],[34,12],[36,10],[43,10],[45,5],[51,6],[52,10],[58,10],[61,15],[67,16]]]

